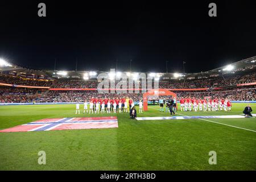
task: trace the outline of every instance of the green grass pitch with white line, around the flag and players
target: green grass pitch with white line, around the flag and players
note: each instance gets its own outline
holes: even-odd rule
[[[242,114],[232,111],[178,112],[183,115]],[[255,110],[256,104],[251,104]],[[138,117],[167,116],[158,106]],[[0,129],[43,118],[92,117],[75,114],[75,105],[0,106]],[[110,115],[110,114],[98,114]],[[256,118],[137,121],[127,113],[118,128],[0,133],[0,170],[255,170]],[[46,165],[38,152],[46,152]],[[217,164],[208,163],[209,151]]]

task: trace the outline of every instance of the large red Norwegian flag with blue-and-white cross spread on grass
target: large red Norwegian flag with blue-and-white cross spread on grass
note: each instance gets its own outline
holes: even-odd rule
[[[10,129],[0,130],[0,132],[105,129],[112,127],[118,127],[117,117],[53,118],[40,119]]]

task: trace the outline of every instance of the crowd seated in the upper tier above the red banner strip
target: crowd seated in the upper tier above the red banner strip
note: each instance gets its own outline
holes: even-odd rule
[[[28,78],[19,78],[13,76],[0,75],[0,83],[15,84],[15,85],[29,85],[29,86],[51,86],[51,88],[97,88],[98,81],[85,80],[33,80]],[[244,76],[234,77],[215,77],[202,78],[193,80],[172,80],[160,81],[159,88],[212,88],[219,86],[230,86],[237,84],[245,84],[249,82],[256,82],[256,73],[249,73]],[[128,84],[127,84],[128,85]],[[110,87],[110,86],[109,86]],[[140,84],[141,88],[141,84]]]

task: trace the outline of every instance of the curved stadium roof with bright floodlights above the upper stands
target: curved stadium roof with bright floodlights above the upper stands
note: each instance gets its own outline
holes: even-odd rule
[[[172,79],[195,79],[195,78],[208,78],[218,77],[225,75],[232,75],[234,73],[240,74],[243,72],[255,72],[256,68],[256,56],[237,61],[224,67],[215,68],[206,72],[199,73],[155,73],[160,76],[160,80],[172,80]],[[46,76],[52,78],[74,78],[82,79],[87,74],[88,80],[97,80],[99,73],[110,73],[110,72],[99,72],[99,71],[63,71],[63,70],[35,70],[19,67],[18,65],[11,65],[11,67],[0,67],[1,73],[9,74],[15,72],[16,76],[20,74]],[[125,72],[127,73],[127,72]]]

